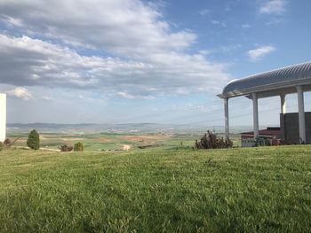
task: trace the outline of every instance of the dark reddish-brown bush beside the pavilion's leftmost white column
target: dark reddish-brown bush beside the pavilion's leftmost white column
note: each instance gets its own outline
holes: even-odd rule
[[[200,142],[195,140],[195,149],[220,149],[232,146],[233,143],[229,138],[226,138],[226,140],[223,137],[217,138],[210,130],[207,130],[207,134],[201,137]]]

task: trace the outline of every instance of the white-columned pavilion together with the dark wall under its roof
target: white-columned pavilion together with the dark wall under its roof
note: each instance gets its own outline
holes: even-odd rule
[[[260,136],[258,99],[279,96],[282,139],[287,143],[311,144],[311,113],[305,113],[304,105],[304,92],[310,90],[311,62],[286,66],[229,82],[218,95],[224,99],[226,136],[229,136],[229,98],[244,96],[252,100],[253,132],[248,134],[257,138]],[[286,113],[285,97],[292,93],[297,93],[299,113]]]

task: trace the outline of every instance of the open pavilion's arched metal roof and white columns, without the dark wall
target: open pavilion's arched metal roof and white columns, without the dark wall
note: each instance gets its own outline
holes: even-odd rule
[[[311,90],[311,62],[286,66],[272,71],[253,74],[227,83],[218,97],[224,100],[225,131],[229,137],[229,98],[248,97],[252,100],[254,138],[259,136],[258,99],[280,97],[281,113],[286,113],[285,96],[297,93],[299,106],[299,142],[306,142],[304,92]]]

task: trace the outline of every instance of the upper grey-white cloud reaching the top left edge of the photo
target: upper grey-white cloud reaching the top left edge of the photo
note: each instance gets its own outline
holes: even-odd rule
[[[0,1],[0,14],[19,19],[24,35],[127,57],[184,50],[196,37],[187,29],[172,31],[155,5],[139,0]]]

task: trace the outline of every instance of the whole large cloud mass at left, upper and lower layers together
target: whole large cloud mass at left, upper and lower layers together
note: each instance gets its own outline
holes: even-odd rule
[[[125,98],[221,89],[225,66],[187,50],[177,30],[138,0],[0,2],[0,81],[97,89]]]

